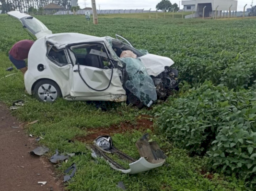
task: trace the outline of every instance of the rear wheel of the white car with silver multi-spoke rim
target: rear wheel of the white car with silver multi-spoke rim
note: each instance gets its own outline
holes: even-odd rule
[[[61,91],[56,82],[52,80],[41,80],[34,88],[35,97],[41,102],[54,102],[61,97]]]

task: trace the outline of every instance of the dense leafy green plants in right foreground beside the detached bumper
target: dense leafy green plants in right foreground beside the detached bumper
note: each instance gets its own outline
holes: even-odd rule
[[[186,84],[183,85],[186,89]],[[256,93],[206,81],[154,108],[160,130],[180,148],[207,152],[213,167],[256,175]]]

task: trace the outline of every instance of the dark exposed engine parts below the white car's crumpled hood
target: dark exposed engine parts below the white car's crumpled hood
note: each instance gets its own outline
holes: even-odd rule
[[[165,66],[165,70],[156,77],[151,76],[156,86],[158,99],[165,100],[168,96],[173,95],[174,90],[178,90],[178,71]]]

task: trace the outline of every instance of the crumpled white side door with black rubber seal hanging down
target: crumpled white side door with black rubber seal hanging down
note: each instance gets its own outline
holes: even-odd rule
[[[103,43],[72,45],[70,52],[75,60],[70,96],[113,101],[113,96],[126,95]]]

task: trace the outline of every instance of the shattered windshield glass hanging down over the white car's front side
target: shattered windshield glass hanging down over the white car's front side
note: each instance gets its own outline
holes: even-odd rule
[[[139,50],[108,36],[105,37],[105,39],[107,40],[106,46],[112,57],[119,62],[121,61],[126,69],[128,74],[128,80],[125,82],[126,88],[134,96],[138,97],[143,104],[150,106],[157,100],[156,88],[151,76],[147,73],[145,66],[139,59],[137,59],[148,52],[145,50],[140,52]],[[122,53],[127,51],[132,52],[130,55],[134,55],[133,58],[121,56]]]

